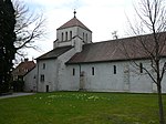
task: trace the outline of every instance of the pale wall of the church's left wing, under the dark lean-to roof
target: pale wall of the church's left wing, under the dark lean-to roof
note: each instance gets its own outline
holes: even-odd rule
[[[75,54],[75,49],[71,49],[58,59],[40,60],[38,61],[38,92],[52,91],[71,91],[72,86],[68,83],[66,65],[68,62]],[[45,69],[43,69],[45,64]],[[41,81],[41,75],[44,75],[44,81]]]

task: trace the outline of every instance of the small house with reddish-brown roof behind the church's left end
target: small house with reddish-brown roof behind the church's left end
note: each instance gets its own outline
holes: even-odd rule
[[[21,62],[13,71],[12,71],[12,79],[14,82],[27,82],[25,75],[27,73],[31,72],[35,68],[35,63],[33,61],[28,61],[28,59],[24,59],[23,62]],[[31,81],[30,81],[31,82]],[[24,83],[24,87],[25,83]]]

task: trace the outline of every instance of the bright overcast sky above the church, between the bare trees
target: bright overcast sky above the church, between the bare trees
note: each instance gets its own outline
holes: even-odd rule
[[[56,29],[73,18],[83,22],[92,32],[92,41],[113,39],[117,31],[120,38],[127,37],[127,17],[134,16],[134,0],[21,0],[33,12],[42,12],[46,19],[46,35],[42,42],[35,42],[42,51],[29,51],[29,59],[49,52],[56,39]],[[127,17],[126,17],[127,16]]]

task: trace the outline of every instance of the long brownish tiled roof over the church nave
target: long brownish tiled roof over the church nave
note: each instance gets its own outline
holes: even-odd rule
[[[164,46],[160,55],[166,56],[166,33],[163,33]],[[146,41],[145,45],[149,51],[154,50],[154,41],[152,35],[141,35],[117,40],[110,40],[104,42],[85,44],[83,51],[76,53],[68,63],[90,63],[90,62],[104,62],[104,61],[121,61],[128,59],[147,59],[149,55],[145,51],[138,39],[144,39]],[[126,54],[127,53],[127,54]]]

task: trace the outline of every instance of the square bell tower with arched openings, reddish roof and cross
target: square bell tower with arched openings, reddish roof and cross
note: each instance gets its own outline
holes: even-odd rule
[[[80,45],[79,48],[82,48],[83,44],[92,43],[92,31],[76,18],[75,10],[73,13],[74,17],[71,20],[56,29],[54,49],[68,45]]]

